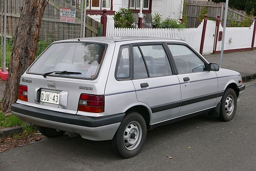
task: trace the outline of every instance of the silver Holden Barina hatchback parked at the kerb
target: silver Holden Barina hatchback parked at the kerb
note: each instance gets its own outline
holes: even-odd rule
[[[147,130],[201,113],[230,121],[241,75],[209,64],[188,43],[97,37],[52,43],[20,79],[12,113],[47,137],[112,140],[134,157]]]

